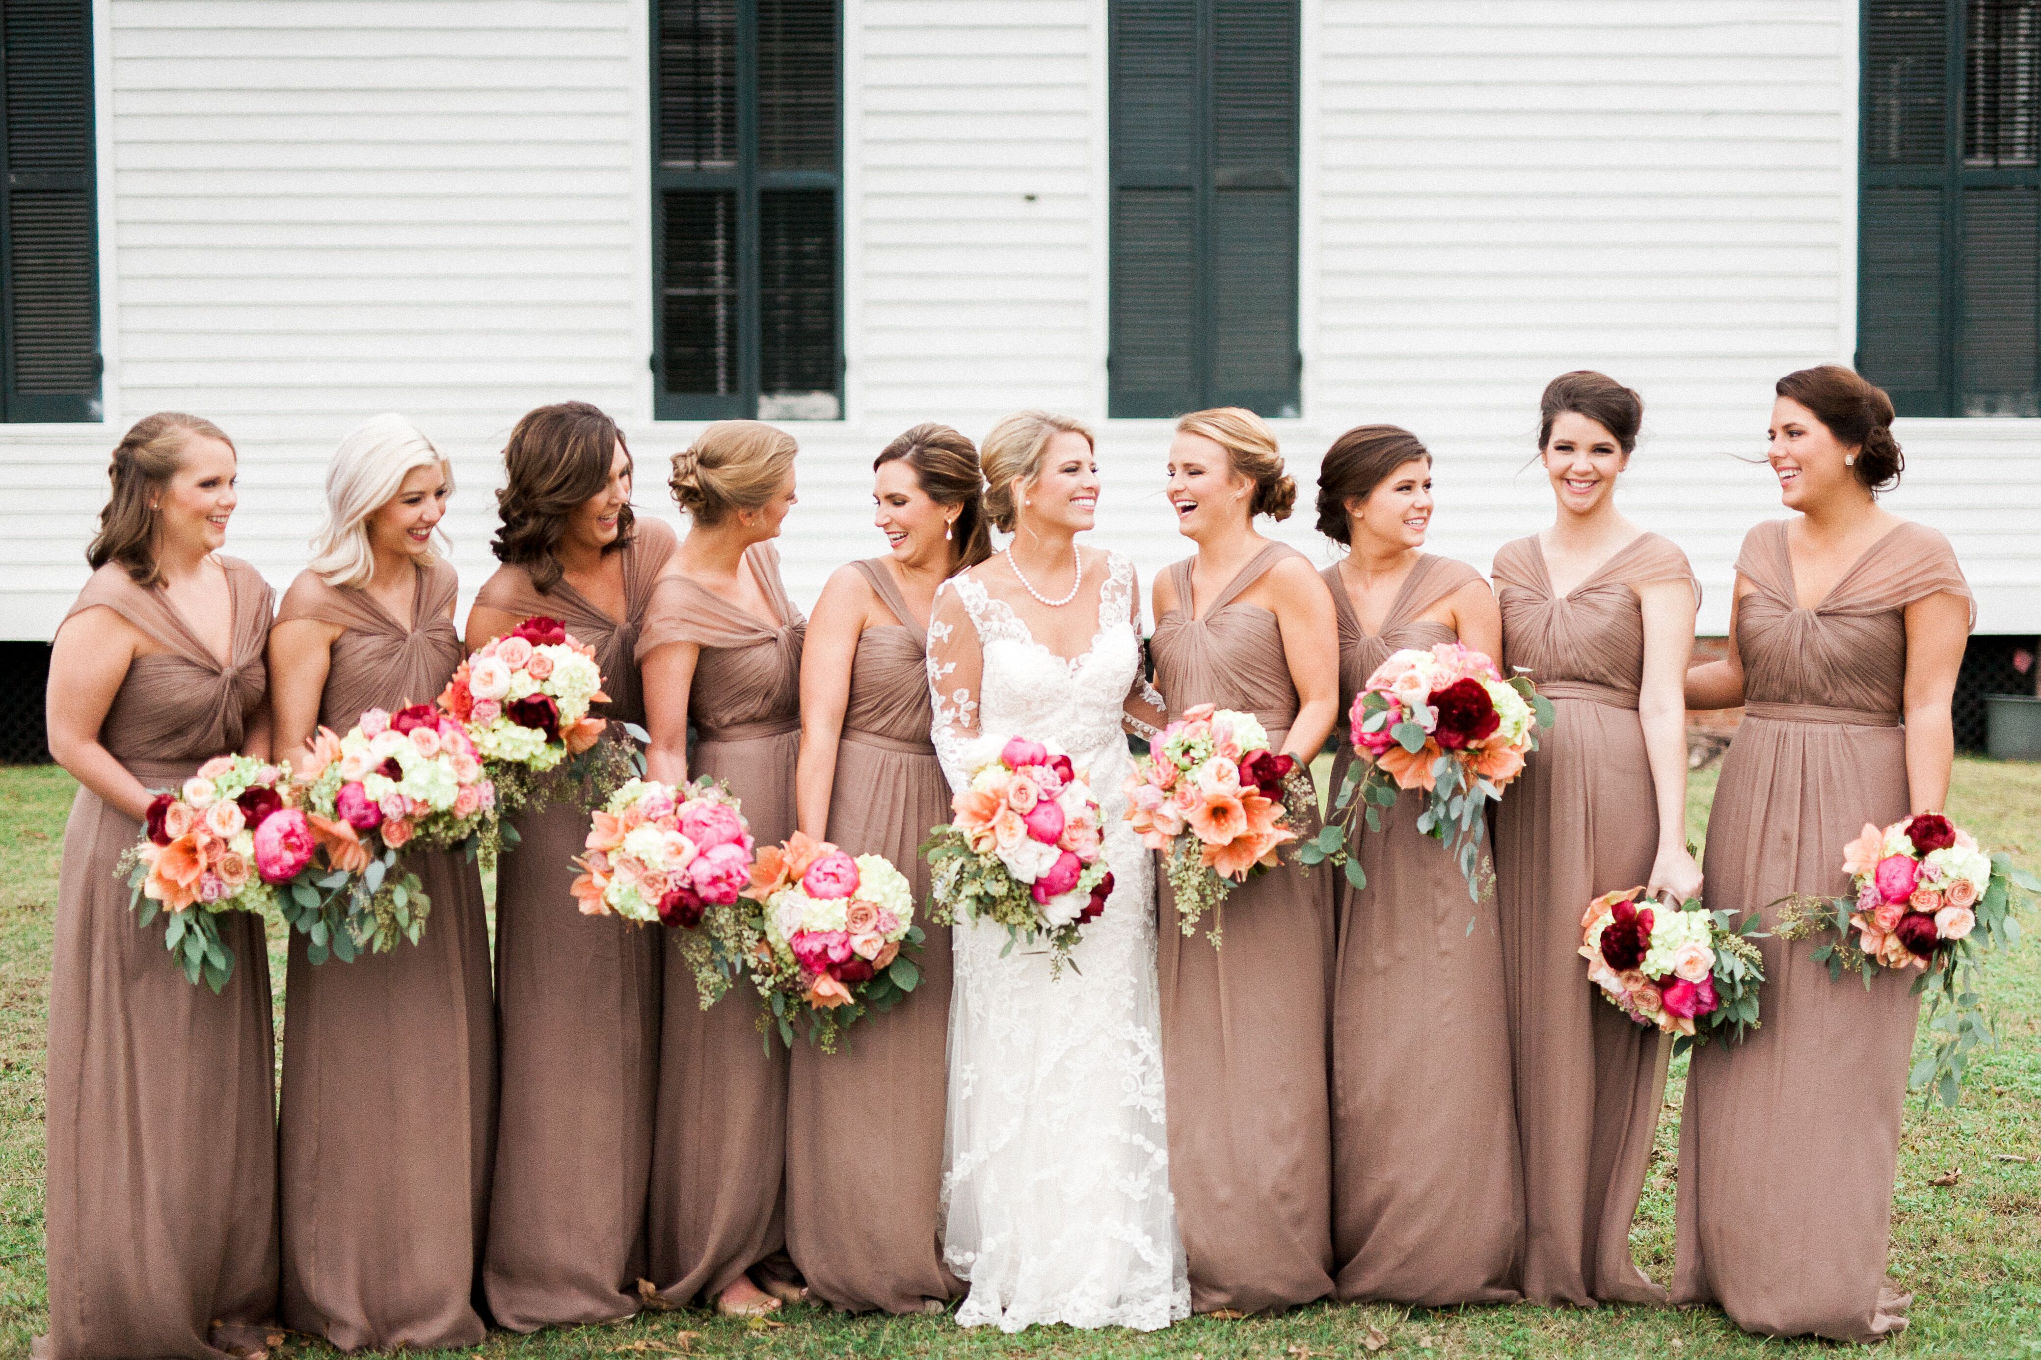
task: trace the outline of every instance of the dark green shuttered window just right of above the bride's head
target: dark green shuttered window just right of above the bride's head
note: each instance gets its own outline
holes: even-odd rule
[[[1112,0],[1110,416],[1298,414],[1296,0]]]

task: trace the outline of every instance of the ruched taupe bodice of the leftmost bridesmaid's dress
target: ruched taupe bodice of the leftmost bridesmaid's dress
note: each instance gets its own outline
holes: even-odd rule
[[[157,777],[153,767],[196,767],[237,750],[267,691],[263,646],[276,593],[249,563],[237,557],[218,561],[227,569],[235,608],[227,665],[206,648],[161,587],[137,585],[118,563],[94,571],[65,614],[71,618],[106,606],[167,648],[129,663],[127,679],[100,724],[100,744],[122,765],[141,767],[145,781]]]

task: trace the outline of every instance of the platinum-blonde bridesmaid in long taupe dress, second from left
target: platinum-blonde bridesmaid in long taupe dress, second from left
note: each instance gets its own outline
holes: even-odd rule
[[[282,756],[306,754],[320,726],[345,732],[367,708],[433,703],[447,685],[457,579],[433,548],[451,493],[447,457],[402,416],[333,453],[327,524],[269,630]],[[496,1015],[482,883],[453,850],[406,867],[433,901],[418,944],[312,966],[306,936],[290,938],[282,1311],[345,1352],[484,1336]]]

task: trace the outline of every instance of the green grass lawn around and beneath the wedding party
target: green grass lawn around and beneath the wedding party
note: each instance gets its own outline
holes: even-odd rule
[[[1690,836],[1706,830],[1714,775],[1694,777]],[[24,1356],[45,1325],[43,1299],[43,1022],[57,858],[71,781],[57,769],[0,771],[0,1354]],[[2041,867],[2041,767],[1957,761],[1949,812],[1988,846]],[[1906,1356],[2041,1358],[2041,920],[2029,944],[1998,960],[1988,993],[2002,1046],[1972,1073],[1963,1105],[1910,1109],[1892,1215],[1892,1272],[1914,1293],[1912,1327],[1890,1344]],[[282,981],[280,940],[271,940]],[[169,960],[163,960],[169,966]],[[282,1024],[282,1009],[278,1011]],[[1684,1062],[1635,1227],[1637,1256],[1672,1278],[1674,1146]],[[1423,1099],[1412,1083],[1412,1099]],[[1935,1185],[1959,1170],[1953,1185]],[[1808,1168],[1808,1174],[1823,1174]],[[741,1325],[708,1313],[659,1313],[616,1327],[537,1338],[496,1333],[486,1356],[1759,1356],[1814,1342],[1741,1336],[1714,1311],[1541,1307],[1396,1309],[1318,1305],[1270,1319],[1192,1319],[1167,1331],[1035,1327],[1018,1338],[963,1331],[947,1319],[833,1317],[790,1309],[784,1323]],[[290,1356],[327,1356],[290,1338]],[[449,1352],[457,1354],[457,1352]]]

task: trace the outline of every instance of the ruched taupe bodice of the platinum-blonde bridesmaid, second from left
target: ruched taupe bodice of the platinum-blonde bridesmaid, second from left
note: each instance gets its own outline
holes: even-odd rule
[[[406,703],[431,703],[461,665],[461,634],[447,612],[459,591],[459,575],[447,561],[414,571],[410,620],[394,618],[367,591],[329,585],[310,571],[300,571],[284,591],[280,624],[310,618],[343,628],[333,640],[327,691],[318,703],[322,726],[347,732],[363,710],[396,712]]]

